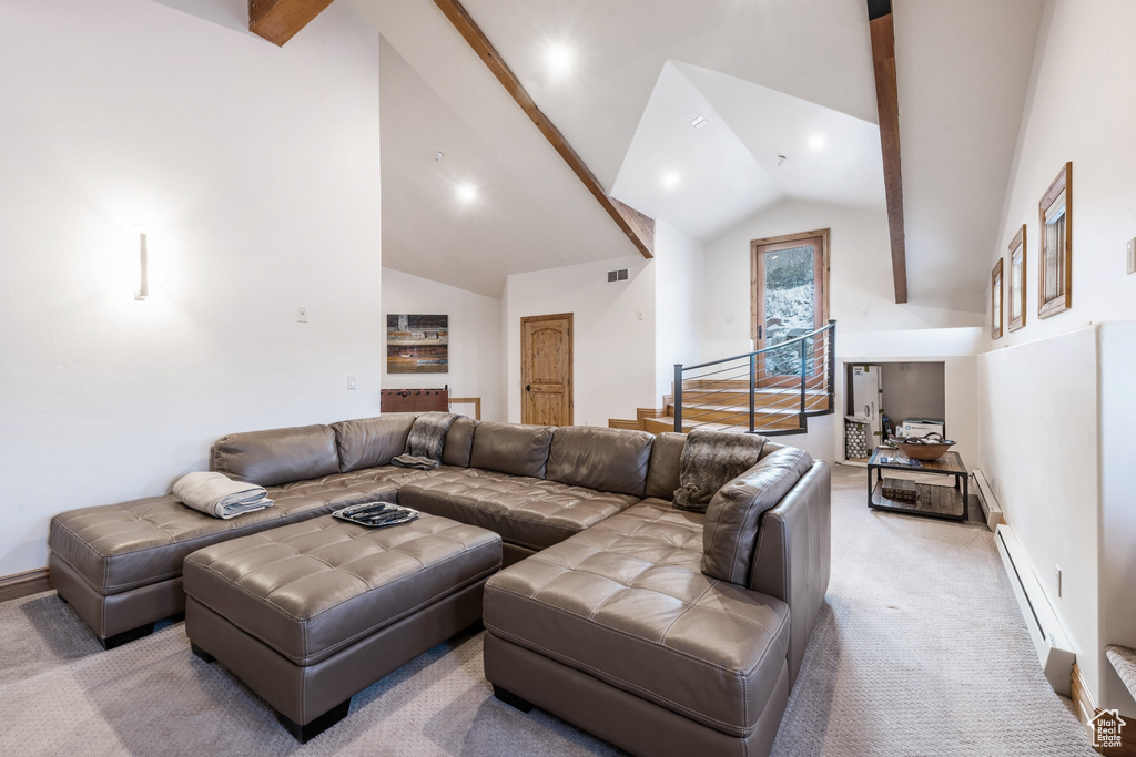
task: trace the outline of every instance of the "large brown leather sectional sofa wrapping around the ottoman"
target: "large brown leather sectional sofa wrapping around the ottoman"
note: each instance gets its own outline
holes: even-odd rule
[[[767,441],[703,515],[670,504],[684,435],[459,419],[440,468],[395,468],[415,418],[223,437],[210,469],[274,507],[223,521],[166,496],[61,513],[51,581],[109,648],[184,609],[190,554],[396,501],[501,536],[483,616],[499,698],[633,752],[768,752],[828,586],[824,462]]]

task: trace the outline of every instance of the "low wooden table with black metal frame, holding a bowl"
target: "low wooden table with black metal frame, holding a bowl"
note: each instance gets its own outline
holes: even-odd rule
[[[964,521],[969,516],[970,476],[962,457],[957,452],[949,452],[938,460],[922,461],[920,468],[911,468],[901,463],[883,462],[882,457],[902,456],[899,449],[876,447],[868,461],[868,506],[872,510],[887,510],[909,515],[926,515],[951,521]],[[903,471],[945,476],[954,478],[954,486],[937,483],[916,483],[914,502],[891,499],[884,496],[884,472]]]

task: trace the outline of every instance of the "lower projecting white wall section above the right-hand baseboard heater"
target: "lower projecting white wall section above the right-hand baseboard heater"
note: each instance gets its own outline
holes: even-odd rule
[[[1101,675],[1096,329],[997,350],[982,355],[978,365],[980,468],[1095,689]]]

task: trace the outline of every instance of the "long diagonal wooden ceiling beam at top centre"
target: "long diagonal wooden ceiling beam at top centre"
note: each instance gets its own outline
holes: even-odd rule
[[[584,163],[583,159],[576,154],[576,151],[568,143],[568,140],[565,138],[565,135],[560,133],[560,129],[536,107],[536,102],[533,101],[533,98],[521,85],[520,79],[512,73],[512,69],[501,58],[493,43],[485,36],[481,27],[474,23],[469,12],[458,0],[434,0],[434,3],[441,8],[454,28],[465,37],[469,47],[477,53],[477,57],[482,59],[482,62],[493,72],[493,75],[501,82],[506,91],[512,95],[512,99],[517,101],[517,104],[525,111],[525,115],[532,119],[536,128],[541,129],[541,134],[560,153],[560,157],[568,163],[568,167],[571,168],[573,173],[579,177],[579,180],[584,183],[588,192],[592,193],[600,205],[611,216],[611,219],[616,221],[620,230],[627,235],[627,238],[635,245],[635,249],[644,258],[653,258],[654,220],[625,205],[604,191],[603,185],[595,178],[595,175]]]

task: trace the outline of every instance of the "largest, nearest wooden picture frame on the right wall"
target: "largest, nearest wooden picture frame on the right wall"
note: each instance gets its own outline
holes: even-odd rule
[[[1037,317],[1072,308],[1072,162],[1038,203]]]

